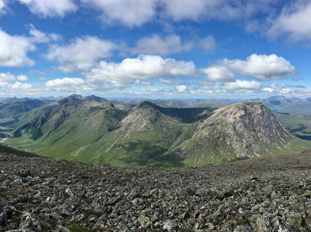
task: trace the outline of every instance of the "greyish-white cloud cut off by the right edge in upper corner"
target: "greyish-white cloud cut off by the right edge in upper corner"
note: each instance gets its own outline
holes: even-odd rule
[[[285,34],[288,42],[311,40],[311,2],[307,1],[308,4],[304,2],[297,1],[284,7],[281,14],[272,22],[267,35],[276,38]]]

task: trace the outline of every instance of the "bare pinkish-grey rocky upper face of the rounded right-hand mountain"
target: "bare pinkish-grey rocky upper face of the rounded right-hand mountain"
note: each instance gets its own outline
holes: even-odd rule
[[[261,103],[236,103],[216,109],[214,114],[198,126],[194,136],[211,137],[211,133],[223,134],[225,144],[231,144],[238,158],[248,158],[248,154],[269,151],[269,145],[282,141],[296,141],[277,122],[272,112]],[[214,136],[212,136],[214,137]],[[220,140],[213,141],[212,147],[221,146]],[[228,146],[225,146],[228,147]]]

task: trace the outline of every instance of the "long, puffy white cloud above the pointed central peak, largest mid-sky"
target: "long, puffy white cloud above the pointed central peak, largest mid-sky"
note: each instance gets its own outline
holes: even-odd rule
[[[140,55],[127,58],[121,63],[100,61],[96,68],[82,74],[89,81],[104,81],[114,84],[128,84],[137,79],[160,78],[164,76],[186,76],[196,72],[192,61],[186,62],[160,56]]]

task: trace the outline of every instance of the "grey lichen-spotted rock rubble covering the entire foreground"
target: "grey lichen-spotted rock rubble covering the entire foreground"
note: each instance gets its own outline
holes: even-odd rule
[[[0,154],[0,231],[311,231],[311,154],[120,168]]]

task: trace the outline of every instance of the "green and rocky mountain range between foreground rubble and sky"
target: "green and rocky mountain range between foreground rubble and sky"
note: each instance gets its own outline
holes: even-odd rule
[[[311,148],[310,141],[290,133],[260,102],[219,109],[161,107],[163,103],[173,101],[134,106],[72,95],[12,121],[6,142],[42,156],[123,167],[209,165]],[[286,122],[288,114],[276,115]]]

